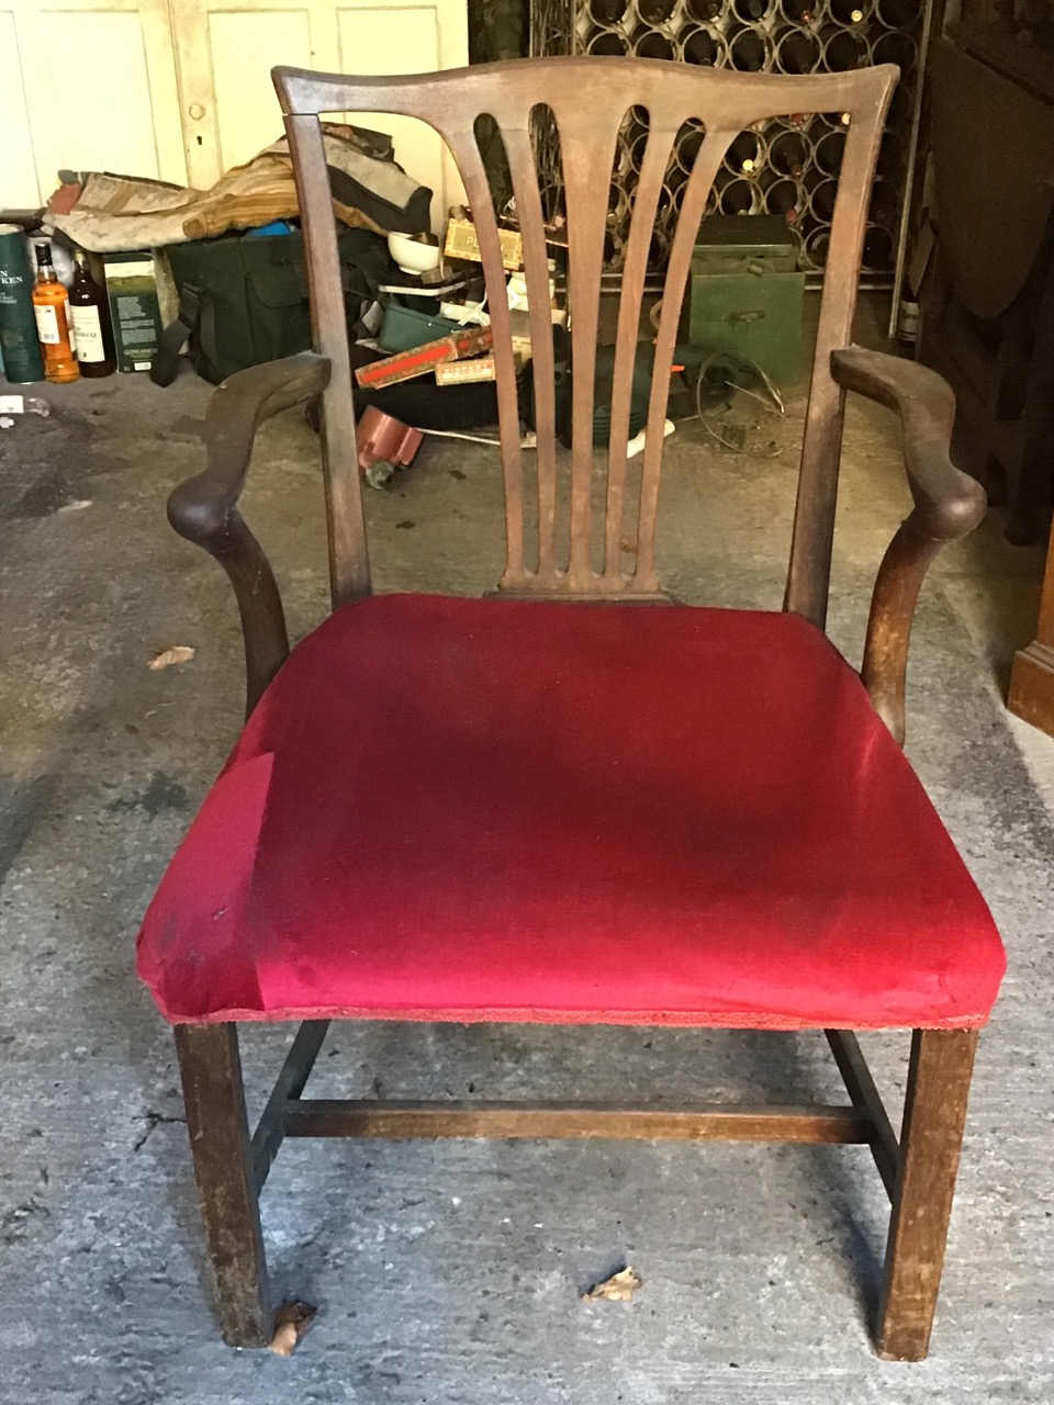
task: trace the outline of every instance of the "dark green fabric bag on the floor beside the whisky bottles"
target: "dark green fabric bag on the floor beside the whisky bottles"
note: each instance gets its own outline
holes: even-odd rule
[[[395,274],[382,235],[340,228],[344,308],[351,336],[379,284]],[[188,347],[198,375],[218,385],[235,371],[277,361],[311,347],[311,309],[304,237],[221,235],[171,244],[167,250],[180,311],[162,333],[150,367],[155,385],[171,385]]]

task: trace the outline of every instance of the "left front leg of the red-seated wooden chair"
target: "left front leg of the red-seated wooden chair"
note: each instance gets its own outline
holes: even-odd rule
[[[177,1024],[194,1175],[223,1340],[267,1346],[274,1314],[235,1024]]]

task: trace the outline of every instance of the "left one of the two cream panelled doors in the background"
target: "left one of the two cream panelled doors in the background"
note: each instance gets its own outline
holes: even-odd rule
[[[0,208],[59,170],[184,184],[169,0],[0,0]]]

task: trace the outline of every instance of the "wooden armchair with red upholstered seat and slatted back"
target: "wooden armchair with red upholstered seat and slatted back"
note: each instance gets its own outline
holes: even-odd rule
[[[919,584],[936,552],[980,521],[984,496],[949,461],[944,384],[850,346],[867,192],[897,70],[788,79],[583,58],[398,79],[291,69],[274,77],[299,183],[316,350],[242,372],[215,392],[207,468],[170,500],[176,530],[233,582],[249,719],[139,937],[142,978],[176,1027],[223,1338],[236,1346],[271,1338],[257,1197],[285,1137],[861,1142],[892,1200],[877,1349],[919,1360],[977,1030],[1005,958],[898,746]],[[547,247],[530,138],[537,104],[559,128],[566,180],[566,479],[555,450]],[[616,135],[634,105],[651,126],[597,513],[601,243]],[[319,112],[357,110],[430,122],[478,222],[506,496],[497,599],[371,594],[318,122]],[[743,126],[811,111],[845,112],[849,129],[784,608],[642,607],[659,596],[661,426],[707,192]],[[538,426],[530,472],[496,222],[474,136],[479,114],[503,133],[524,242]],[[689,118],[707,135],[672,246],[648,443],[630,493],[630,382],[648,244],[670,146]],[[847,389],[898,412],[915,500],[878,572],[863,684],[824,635]],[[257,426],[312,396],[322,399],[333,614],[289,653],[274,576],[238,503]],[[627,520],[634,552],[624,548]],[[604,608],[576,603],[597,599]],[[822,1030],[849,1097],[790,1109],[306,1099],[332,1019]],[[250,1135],[238,1024],[254,1020],[302,1023]],[[913,1031],[899,1138],[852,1033],[887,1027]],[[580,1037],[587,1041],[589,1028]]]

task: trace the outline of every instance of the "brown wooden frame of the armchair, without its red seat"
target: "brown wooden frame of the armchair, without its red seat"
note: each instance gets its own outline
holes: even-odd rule
[[[812,111],[847,114],[784,608],[824,628],[845,392],[894,410],[902,422],[904,468],[913,509],[892,538],[874,586],[861,677],[876,710],[904,738],[904,690],[915,601],[935,555],[981,520],[981,488],[949,459],[954,402],[932,371],[850,341],[867,192],[897,79],[892,67],[829,76],[772,77],[693,70],[655,60],[541,59],[440,74],[375,79],[274,70],[295,160],[308,251],[315,350],[232,377],[214,395],[205,423],[207,468],[173,493],[174,528],[204,547],[230,577],[245,631],[247,708],[253,710],[288,655],[274,575],[245,524],[238,500],[257,427],[268,416],[319,396],[333,606],[371,590],[354,447],[351,372],[330,214],[320,112],[385,111],[417,117],[445,140],[465,183],[479,230],[488,287],[503,287],[497,225],[474,135],[490,114],[505,136],[524,243],[531,308],[538,427],[537,523],[524,513],[516,372],[502,296],[490,298],[506,490],[507,559],[502,589],[564,599],[655,599],[655,520],[665,388],[676,341],[694,230],[729,142],[763,118]],[[566,183],[569,282],[573,288],[573,450],[568,540],[561,541],[554,455],[554,350],[548,318],[547,246],[531,150],[531,114],[545,104],[559,128]],[[594,531],[593,357],[601,237],[616,133],[624,112],[644,107],[649,138],[625,254],[611,400],[606,518]],[[625,445],[637,326],[651,228],[666,160],[680,125],[701,119],[705,138],[689,178],[673,240],[655,347],[648,440],[637,507],[635,565],[625,566]],[[920,1360],[943,1266],[967,1094],[974,1028],[918,1028],[899,1137],[881,1104],[856,1037],[828,1030],[849,1102],[845,1106],[690,1107],[565,1103],[417,1103],[311,1100],[302,1096],[327,1021],[301,1026],[260,1124],[250,1135],[238,1027],[177,1024],[176,1047],[222,1333],[233,1346],[264,1346],[273,1335],[259,1194],[285,1137],[609,1137],[772,1142],[857,1142],[870,1146],[892,1203],[874,1340],[885,1359]]]

